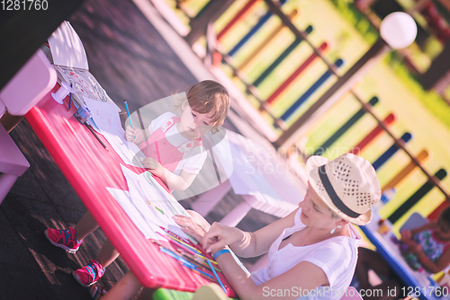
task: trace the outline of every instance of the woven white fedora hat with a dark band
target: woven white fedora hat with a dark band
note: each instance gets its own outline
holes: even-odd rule
[[[370,222],[370,207],[382,195],[371,163],[355,154],[343,154],[333,161],[311,156],[306,173],[311,188],[333,213],[356,225]]]

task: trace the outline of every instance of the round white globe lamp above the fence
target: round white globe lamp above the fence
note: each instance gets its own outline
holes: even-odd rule
[[[396,12],[383,19],[380,34],[391,48],[402,49],[416,40],[418,28],[410,14]]]

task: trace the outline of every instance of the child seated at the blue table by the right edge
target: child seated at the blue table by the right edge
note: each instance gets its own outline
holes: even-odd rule
[[[410,260],[413,264],[420,264],[429,273],[437,273],[446,269],[450,265],[450,207],[447,207],[437,219],[437,222],[430,222],[412,230],[401,231],[401,243],[408,247]],[[368,270],[374,272],[383,279],[383,283],[372,287],[368,279]],[[401,280],[395,275],[389,264],[383,260],[380,253],[366,249],[359,249],[359,259],[356,265],[356,278],[361,289],[381,289],[383,295],[387,295],[386,290],[397,287],[401,290]],[[370,299],[396,299],[398,295],[392,297],[373,297]]]

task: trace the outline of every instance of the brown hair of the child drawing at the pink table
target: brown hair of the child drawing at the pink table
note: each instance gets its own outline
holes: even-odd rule
[[[227,117],[229,110],[229,93],[227,89],[216,81],[203,80],[198,84],[193,84],[186,94],[191,110],[202,114],[214,112],[211,116],[212,133],[219,131],[219,126]],[[175,110],[181,111],[183,102],[174,105]]]

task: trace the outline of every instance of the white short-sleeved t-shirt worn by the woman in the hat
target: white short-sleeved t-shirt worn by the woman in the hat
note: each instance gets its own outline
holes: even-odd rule
[[[324,271],[329,279],[329,287],[318,287],[307,296],[305,295],[304,299],[338,300],[347,291],[355,273],[361,235],[350,225],[351,237],[335,236],[319,243],[300,247],[295,247],[292,243],[289,243],[278,250],[280,243],[285,237],[306,227],[300,219],[301,213],[302,208],[299,208],[295,214],[295,225],[284,229],[283,234],[272,243],[268,252],[269,264],[267,268],[258,269],[250,275],[250,278],[259,286],[267,280],[292,269],[301,261],[309,261]],[[298,293],[299,298],[303,296],[300,294],[303,292],[300,290],[300,287],[292,287],[291,296],[297,296],[294,294],[295,291]]]

